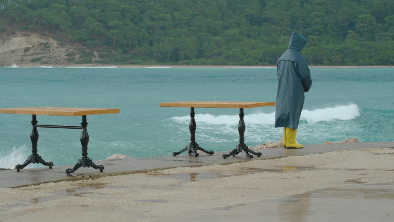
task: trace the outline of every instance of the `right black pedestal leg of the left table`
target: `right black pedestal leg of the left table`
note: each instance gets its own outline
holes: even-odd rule
[[[67,176],[70,176],[70,173],[74,173],[80,167],[93,167],[94,169],[99,169],[100,172],[104,169],[102,165],[96,165],[93,163],[92,159],[87,157],[87,144],[89,143],[89,134],[87,133],[87,122],[86,116],[82,116],[82,132],[80,136],[80,141],[82,145],[82,158],[78,160],[78,163],[75,164],[73,168],[66,169]]]

